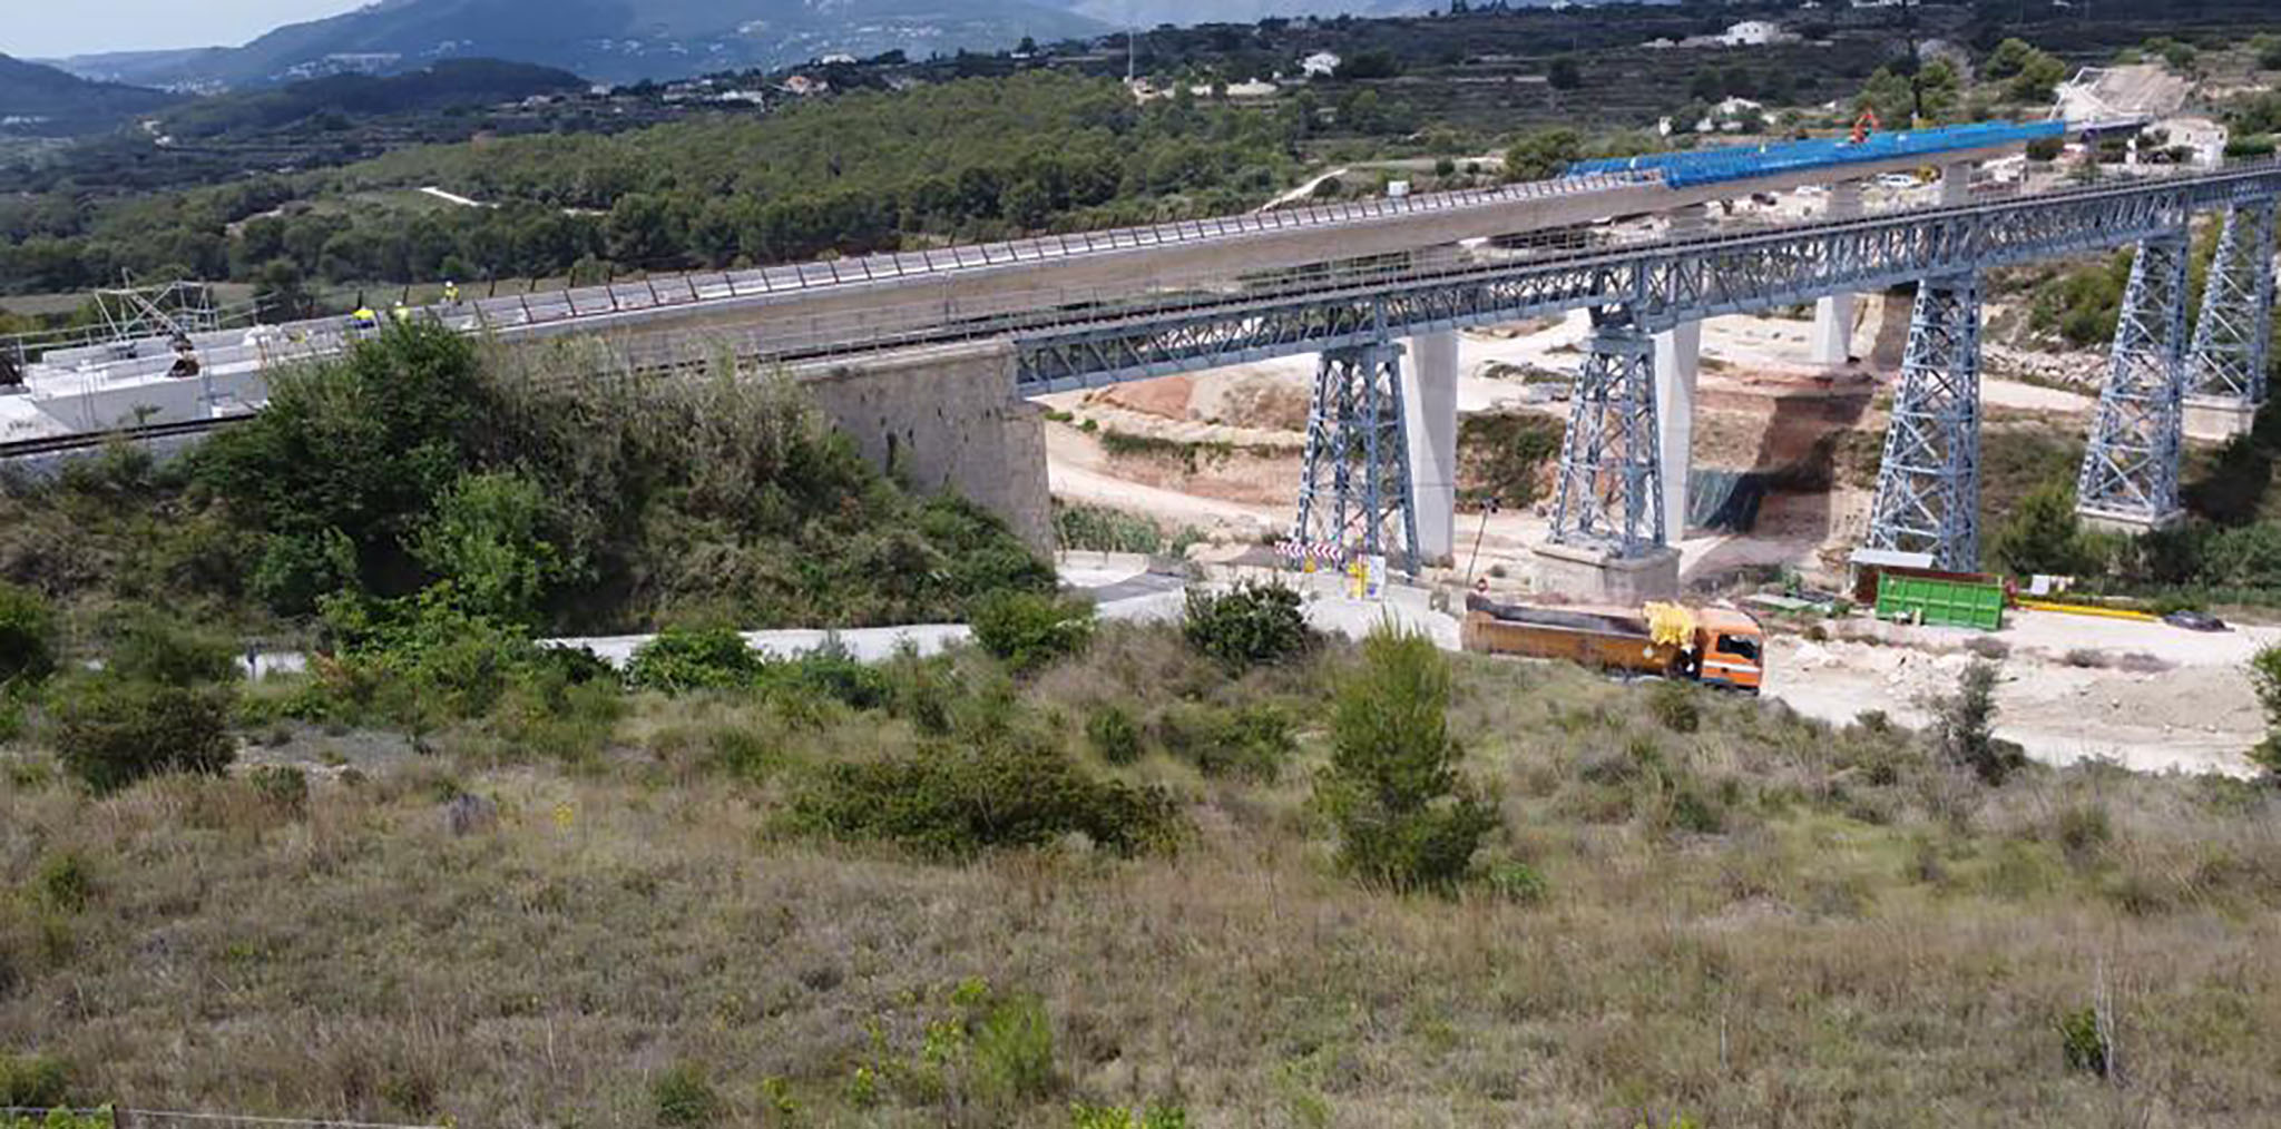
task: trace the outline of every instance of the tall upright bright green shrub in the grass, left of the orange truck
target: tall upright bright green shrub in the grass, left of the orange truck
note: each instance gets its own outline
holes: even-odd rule
[[[1337,687],[1330,769],[1316,803],[1339,828],[1339,862],[1394,890],[1448,890],[1496,828],[1496,807],[1458,773],[1448,661],[1421,634],[1371,632]]]

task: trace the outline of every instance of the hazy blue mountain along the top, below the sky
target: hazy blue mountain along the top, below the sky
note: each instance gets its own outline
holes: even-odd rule
[[[148,84],[244,89],[488,57],[632,82],[837,52],[997,50],[1022,36],[1102,30],[1065,5],[1038,0],[381,0],[278,27],[242,48],[105,55],[71,66]]]

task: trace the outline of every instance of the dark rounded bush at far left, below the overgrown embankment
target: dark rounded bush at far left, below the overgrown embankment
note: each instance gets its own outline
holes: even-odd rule
[[[169,771],[219,775],[237,757],[230,705],[221,689],[84,677],[59,696],[55,750],[96,791]]]

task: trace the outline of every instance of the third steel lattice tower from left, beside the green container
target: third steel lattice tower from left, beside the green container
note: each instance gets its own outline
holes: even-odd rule
[[[1916,287],[1866,547],[1923,552],[1950,572],[1980,568],[1980,281],[1971,274]]]

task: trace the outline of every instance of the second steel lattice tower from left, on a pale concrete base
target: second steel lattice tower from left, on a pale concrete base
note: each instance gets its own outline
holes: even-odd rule
[[[1592,333],[1560,452],[1556,545],[1647,557],[1665,545],[1656,351],[1629,310]]]

